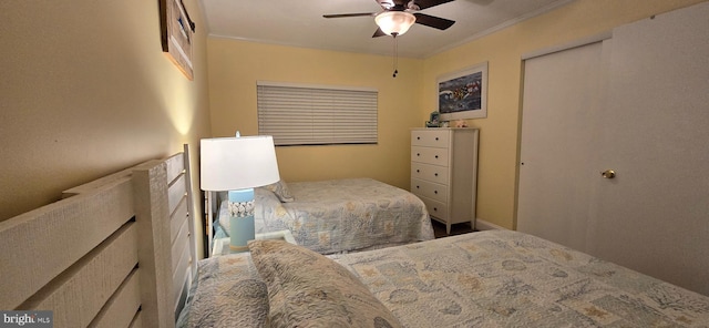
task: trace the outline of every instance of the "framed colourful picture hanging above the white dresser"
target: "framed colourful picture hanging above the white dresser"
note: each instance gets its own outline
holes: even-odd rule
[[[441,121],[487,117],[487,62],[438,79]]]

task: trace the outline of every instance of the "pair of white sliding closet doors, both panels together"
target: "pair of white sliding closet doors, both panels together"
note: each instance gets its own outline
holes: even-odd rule
[[[708,17],[525,62],[518,230],[709,295]]]

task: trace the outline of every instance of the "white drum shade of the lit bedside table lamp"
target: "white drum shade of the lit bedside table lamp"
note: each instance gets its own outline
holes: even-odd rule
[[[280,180],[270,135],[203,139],[199,152],[203,191],[237,191]]]

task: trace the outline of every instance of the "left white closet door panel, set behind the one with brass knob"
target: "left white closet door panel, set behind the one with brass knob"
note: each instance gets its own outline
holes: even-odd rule
[[[524,63],[517,230],[586,248],[605,69],[603,42]]]

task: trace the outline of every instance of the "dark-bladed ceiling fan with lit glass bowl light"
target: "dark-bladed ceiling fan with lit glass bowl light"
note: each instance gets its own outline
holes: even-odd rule
[[[453,0],[374,0],[383,11],[380,12],[359,12],[359,13],[338,13],[323,14],[325,18],[343,18],[343,17],[373,17],[379,29],[372,38],[383,35],[401,35],[405,33],[413,23],[419,23],[430,28],[445,30],[453,25],[455,21],[434,17],[419,12],[420,10],[434,6],[451,2]]]

